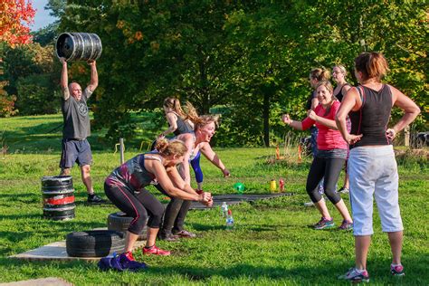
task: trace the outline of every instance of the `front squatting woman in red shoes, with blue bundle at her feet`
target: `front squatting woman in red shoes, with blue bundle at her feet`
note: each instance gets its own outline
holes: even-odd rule
[[[157,141],[157,150],[159,151],[138,154],[129,159],[105,180],[104,191],[110,201],[134,219],[127,230],[124,253],[112,258],[113,263],[107,262],[106,259],[101,260],[99,265],[104,270],[111,268],[113,264],[118,266],[113,268],[121,271],[136,271],[141,268],[141,264],[134,260],[131,252],[145,224],[148,225],[148,234],[143,253],[170,254],[155,245],[164,207],[146,190],[146,186],[160,185],[165,195],[186,201],[199,201],[207,206],[213,205],[210,193],[196,193],[178,174],[176,165],[183,161],[187,152],[182,141],[167,142],[166,139],[160,139]]]

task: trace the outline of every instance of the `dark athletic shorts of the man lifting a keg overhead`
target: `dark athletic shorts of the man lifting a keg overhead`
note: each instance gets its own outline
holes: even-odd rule
[[[62,139],[61,168],[71,168],[77,162],[79,166],[91,165],[92,154],[87,139]]]

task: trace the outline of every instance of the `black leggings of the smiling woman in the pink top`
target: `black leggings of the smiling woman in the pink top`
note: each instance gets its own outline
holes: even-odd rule
[[[313,203],[319,202],[322,198],[318,187],[322,177],[324,177],[323,188],[325,195],[328,196],[329,201],[337,205],[341,200],[341,196],[338,195],[335,186],[338,182],[339,173],[344,167],[344,161],[345,159],[338,157],[314,157],[306,186],[307,193]]]

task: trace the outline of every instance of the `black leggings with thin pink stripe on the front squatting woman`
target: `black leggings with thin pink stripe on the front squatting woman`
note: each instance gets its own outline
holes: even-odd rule
[[[130,233],[140,234],[147,220],[150,228],[161,226],[164,206],[148,190],[143,188],[138,194],[132,194],[128,187],[104,183],[104,192],[113,205],[118,206],[119,210],[125,214],[134,217],[129,224]]]

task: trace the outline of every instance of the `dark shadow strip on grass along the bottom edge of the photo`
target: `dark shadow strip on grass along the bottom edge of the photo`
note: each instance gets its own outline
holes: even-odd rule
[[[298,258],[298,257],[297,257]],[[373,259],[368,261],[368,272],[370,274],[371,282],[376,284],[402,284],[402,285],[424,285],[428,279],[427,270],[425,269],[429,258],[422,255],[413,255],[405,257],[403,260],[405,264],[406,275],[398,278],[393,277],[389,272],[389,259]],[[141,278],[141,283],[147,283],[145,277],[157,275],[159,277],[165,277],[166,279],[171,276],[181,275],[184,280],[189,282],[203,282],[210,283],[212,278],[221,277],[224,279],[224,283],[231,283],[234,281],[254,281],[271,283],[275,281],[290,281],[298,284],[305,285],[332,285],[338,284],[343,285],[346,281],[339,281],[338,275],[347,272],[348,268],[352,266],[352,261],[349,262],[338,262],[338,261],[323,261],[322,266],[267,266],[267,265],[251,265],[248,263],[236,263],[225,265],[222,267],[192,267],[189,265],[180,266],[150,266],[148,271],[132,273],[132,275],[138,275]],[[91,272],[100,272],[96,262],[58,262],[58,261],[23,261],[11,258],[0,258],[0,265],[3,265],[5,269],[14,270],[21,267],[31,265],[34,268],[45,267],[47,264],[51,264],[56,270],[62,273],[80,272],[90,274]],[[151,274],[151,275],[148,275]],[[67,274],[64,274],[67,275]],[[84,274],[82,274],[84,275]],[[123,273],[109,271],[104,272],[103,275],[108,275],[110,278],[116,277],[115,280],[122,280]],[[61,276],[61,275],[60,275]],[[62,277],[67,279],[67,277]],[[262,281],[260,281],[263,279]],[[243,281],[242,281],[243,282]]]

